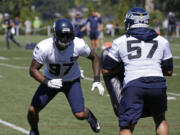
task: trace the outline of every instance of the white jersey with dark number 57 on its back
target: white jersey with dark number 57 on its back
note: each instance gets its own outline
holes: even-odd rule
[[[162,36],[145,42],[123,35],[113,41],[108,55],[117,62],[123,61],[124,87],[140,77],[163,77],[161,62],[172,58],[169,42]]]

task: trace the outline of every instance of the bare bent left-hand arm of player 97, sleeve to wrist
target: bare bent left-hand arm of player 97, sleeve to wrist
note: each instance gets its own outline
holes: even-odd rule
[[[33,59],[29,68],[29,74],[40,83],[43,83],[46,80],[46,78],[40,72],[42,66],[42,64]]]

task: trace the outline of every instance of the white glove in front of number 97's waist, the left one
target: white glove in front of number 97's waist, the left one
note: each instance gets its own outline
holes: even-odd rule
[[[55,89],[59,89],[62,87],[62,79],[52,79],[47,81],[47,86],[49,88],[55,88]]]

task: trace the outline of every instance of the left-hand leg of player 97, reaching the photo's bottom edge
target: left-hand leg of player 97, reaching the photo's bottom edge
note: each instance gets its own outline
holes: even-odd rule
[[[51,101],[59,91],[40,84],[28,110],[28,122],[31,127],[30,135],[39,135],[39,112]]]

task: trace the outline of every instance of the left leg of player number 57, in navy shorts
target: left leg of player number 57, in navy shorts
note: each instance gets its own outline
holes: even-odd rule
[[[124,89],[119,109],[120,135],[131,135],[143,111],[143,88],[129,86]]]

